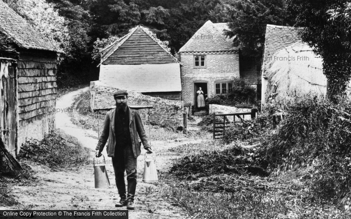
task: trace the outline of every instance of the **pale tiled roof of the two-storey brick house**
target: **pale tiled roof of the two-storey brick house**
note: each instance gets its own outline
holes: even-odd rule
[[[213,23],[208,20],[179,51],[238,50],[237,47],[233,46],[232,39],[224,34],[224,29],[229,29],[228,23]]]

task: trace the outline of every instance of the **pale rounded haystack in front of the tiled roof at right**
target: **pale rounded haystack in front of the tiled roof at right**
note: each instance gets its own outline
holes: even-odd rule
[[[301,40],[276,52],[267,64],[266,100],[287,100],[296,96],[325,96],[323,59]],[[351,87],[351,83],[348,84]]]

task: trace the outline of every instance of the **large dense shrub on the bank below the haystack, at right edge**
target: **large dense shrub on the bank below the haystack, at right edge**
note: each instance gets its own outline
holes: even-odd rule
[[[277,132],[268,137],[270,168],[312,166],[307,182],[316,195],[342,198],[351,182],[351,104],[297,100]]]

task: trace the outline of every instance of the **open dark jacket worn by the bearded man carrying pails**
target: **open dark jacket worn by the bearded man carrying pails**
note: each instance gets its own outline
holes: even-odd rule
[[[111,110],[106,114],[104,127],[101,132],[99,142],[96,145],[96,149],[97,150],[99,149],[100,151],[102,151],[108,139],[107,155],[111,157],[114,156],[114,150],[116,145],[114,122],[115,122],[115,110]],[[141,152],[139,136],[145,149],[149,148],[150,145],[147,140],[144,125],[142,124],[139,111],[136,109],[131,109],[130,107],[129,107],[129,131],[130,131],[130,139],[132,143],[134,157],[137,157],[140,155],[140,152]]]

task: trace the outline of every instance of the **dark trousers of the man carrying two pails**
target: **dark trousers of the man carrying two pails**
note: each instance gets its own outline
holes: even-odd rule
[[[124,149],[119,149],[116,147],[114,157],[112,157],[116,186],[119,196],[122,199],[127,198],[128,201],[134,201],[136,188],[136,163],[137,158],[134,157],[131,145],[127,146]],[[124,170],[127,173],[127,195],[125,190]]]

